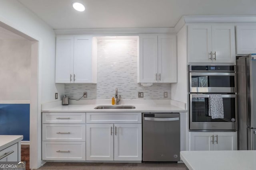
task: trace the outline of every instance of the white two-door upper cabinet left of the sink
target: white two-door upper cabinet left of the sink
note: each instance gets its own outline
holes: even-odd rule
[[[92,55],[92,36],[56,37],[56,83],[96,83],[96,56]]]

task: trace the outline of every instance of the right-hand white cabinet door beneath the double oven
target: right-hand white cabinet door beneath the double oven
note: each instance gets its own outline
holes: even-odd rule
[[[214,150],[237,150],[237,132],[214,132]]]

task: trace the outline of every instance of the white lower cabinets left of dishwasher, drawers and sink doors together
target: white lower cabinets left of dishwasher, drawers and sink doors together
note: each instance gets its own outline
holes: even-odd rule
[[[42,160],[141,161],[141,113],[42,113]]]

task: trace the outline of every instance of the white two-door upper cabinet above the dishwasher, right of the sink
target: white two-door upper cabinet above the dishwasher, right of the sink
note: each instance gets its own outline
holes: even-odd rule
[[[176,35],[140,35],[139,83],[177,82]]]

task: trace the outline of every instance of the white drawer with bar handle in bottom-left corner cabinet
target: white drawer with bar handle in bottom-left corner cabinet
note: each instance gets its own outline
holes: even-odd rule
[[[6,156],[8,155],[8,156]],[[0,151],[0,162],[18,161],[18,143]]]

